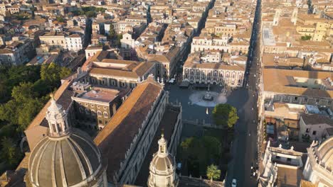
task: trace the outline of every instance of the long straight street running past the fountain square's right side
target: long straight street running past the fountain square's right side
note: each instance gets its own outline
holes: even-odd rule
[[[239,120],[235,127],[235,140],[232,147],[233,159],[228,164],[226,186],[231,186],[233,179],[237,186],[257,186],[257,177],[251,176],[251,166],[257,166],[257,126],[258,126],[258,70],[260,69],[260,4],[257,1],[255,18],[248,52],[248,64],[245,71],[244,88],[247,101],[243,108],[238,108]]]

